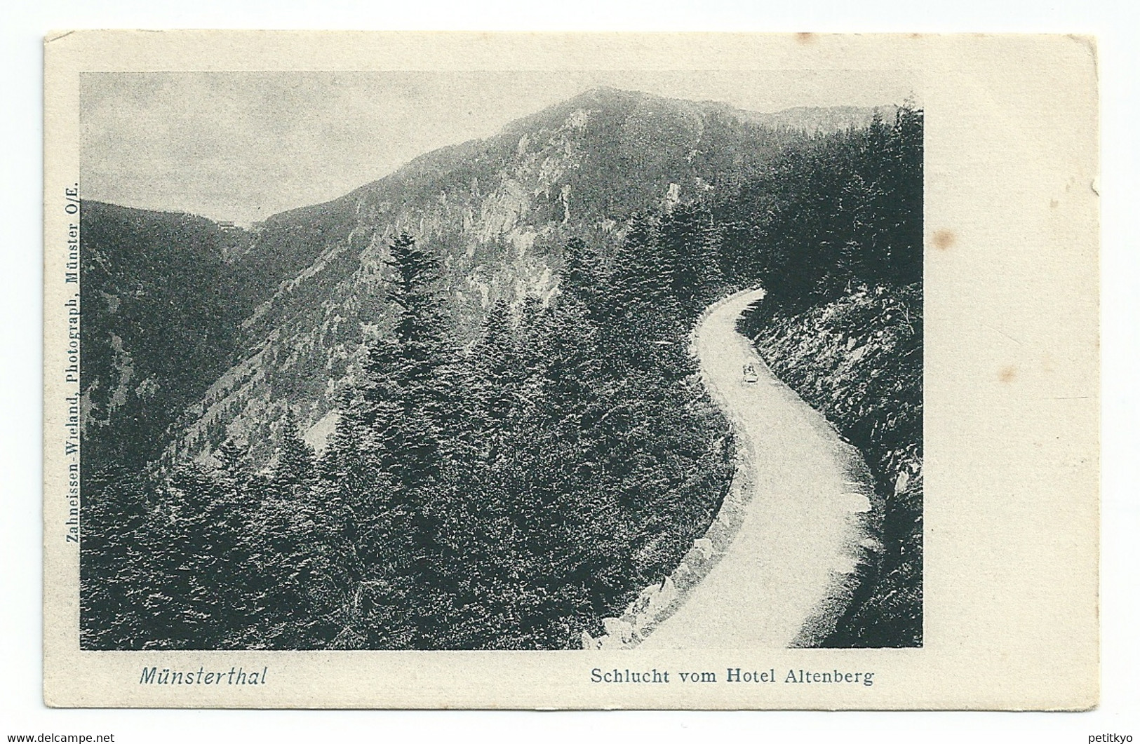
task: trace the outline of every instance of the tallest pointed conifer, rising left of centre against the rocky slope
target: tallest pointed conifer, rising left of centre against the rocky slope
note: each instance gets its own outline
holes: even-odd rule
[[[443,483],[455,416],[455,360],[438,296],[438,259],[408,235],[390,245],[393,337],[369,349],[334,438],[340,530],[356,558],[349,626],[372,645],[429,647],[446,626],[458,565],[447,549],[454,492]],[[352,477],[352,475],[356,477]],[[409,594],[418,596],[408,602]],[[372,646],[369,646],[372,647]]]

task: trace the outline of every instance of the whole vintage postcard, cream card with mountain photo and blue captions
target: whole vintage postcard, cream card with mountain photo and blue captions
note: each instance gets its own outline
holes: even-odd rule
[[[49,705],[1097,704],[1093,40],[44,55]]]

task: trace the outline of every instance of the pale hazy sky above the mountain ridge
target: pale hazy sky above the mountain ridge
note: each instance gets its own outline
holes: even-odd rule
[[[84,73],[84,198],[249,223],[595,85],[759,112],[873,106],[905,71]]]

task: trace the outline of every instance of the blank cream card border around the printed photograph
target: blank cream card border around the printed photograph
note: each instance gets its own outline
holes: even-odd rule
[[[44,47],[43,688],[54,706],[1088,709],[1098,643],[1096,44],[1060,35],[125,32]],[[926,111],[925,645],[685,652],[81,652],[79,73],[898,70]],[[885,101],[888,103],[888,101]],[[81,193],[81,190],[80,190]],[[76,376],[78,377],[78,376]],[[268,669],[256,687],[144,668]],[[591,670],[873,671],[873,686],[617,685]]]

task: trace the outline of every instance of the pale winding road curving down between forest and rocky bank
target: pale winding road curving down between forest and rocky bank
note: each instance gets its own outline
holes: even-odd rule
[[[861,566],[878,563],[882,505],[862,456],[736,333],[763,296],[723,300],[694,332],[701,377],[736,438],[733,492],[675,574],[668,607],[627,619],[626,647],[815,645],[849,604]],[[744,381],[749,363],[756,382]]]

